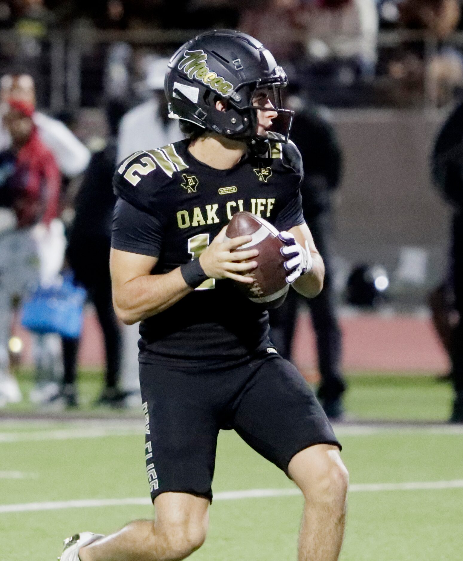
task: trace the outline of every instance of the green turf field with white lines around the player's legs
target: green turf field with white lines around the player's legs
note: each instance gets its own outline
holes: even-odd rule
[[[90,400],[98,387],[84,377],[82,390]],[[348,406],[358,419],[439,420],[449,399],[448,387],[430,378],[365,375],[351,378]],[[107,533],[152,516],[141,415],[140,421],[125,417],[0,421],[2,561],[56,559],[67,535]],[[463,427],[364,422],[336,431],[351,474],[341,559],[463,559]],[[247,492],[269,489],[275,496]],[[232,432],[219,439],[213,490],[208,540],[191,559],[296,559],[301,497]]]

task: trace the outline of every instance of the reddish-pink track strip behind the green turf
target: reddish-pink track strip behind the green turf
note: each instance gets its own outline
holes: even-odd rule
[[[341,309],[343,333],[343,366],[348,372],[402,371],[421,374],[444,373],[448,369],[447,357],[425,312],[395,314],[358,312]],[[317,360],[315,340],[307,312],[302,311],[297,320],[295,334],[295,362],[302,373],[314,379]],[[22,329],[16,333],[29,340]],[[25,345],[24,365],[31,364],[30,345]],[[103,363],[102,335],[93,309],[86,310],[84,329],[79,347],[79,364],[84,369],[97,369]]]

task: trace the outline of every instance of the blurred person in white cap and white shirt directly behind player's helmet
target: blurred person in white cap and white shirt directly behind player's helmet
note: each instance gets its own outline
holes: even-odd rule
[[[149,150],[166,146],[182,139],[177,119],[169,119],[164,75],[167,58],[148,61],[146,81],[143,88],[150,91],[151,99],[131,109],[121,121],[117,161],[121,162],[137,150]],[[138,379],[139,324],[123,326],[122,388],[135,396],[140,392]],[[139,404],[139,399],[133,402]]]

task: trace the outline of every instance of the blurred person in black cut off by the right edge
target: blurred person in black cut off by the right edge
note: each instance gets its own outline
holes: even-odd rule
[[[447,290],[453,293],[452,321],[447,319],[450,339],[451,378],[455,391],[451,422],[463,423],[463,103],[444,124],[433,152],[433,176],[445,199],[451,203],[451,255]],[[448,296],[447,296],[448,302]],[[447,304],[447,302],[445,304]],[[445,305],[444,304],[444,305]],[[447,304],[448,306],[448,304]],[[445,307],[443,312],[446,312]],[[448,310],[447,310],[448,313]],[[450,329],[448,329],[450,328]],[[450,333],[448,331],[450,330]],[[444,343],[445,344],[445,343]]]

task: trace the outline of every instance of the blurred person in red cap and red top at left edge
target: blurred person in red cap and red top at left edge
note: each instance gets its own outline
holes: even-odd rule
[[[33,121],[34,105],[8,102],[4,126],[12,144],[0,152],[0,204],[9,212],[0,233],[0,402],[16,402],[21,393],[8,371],[13,300],[24,298],[39,283],[52,282],[61,268],[62,224],[58,213],[61,174],[51,152],[40,140]],[[61,226],[60,226],[61,224]],[[62,246],[62,249],[64,247]],[[58,251],[59,253],[59,251]],[[56,259],[57,257],[57,259]],[[34,358],[39,392],[52,392],[60,366],[56,336],[35,335]],[[59,343],[58,343],[59,344]],[[40,394],[39,398],[42,397]]]

